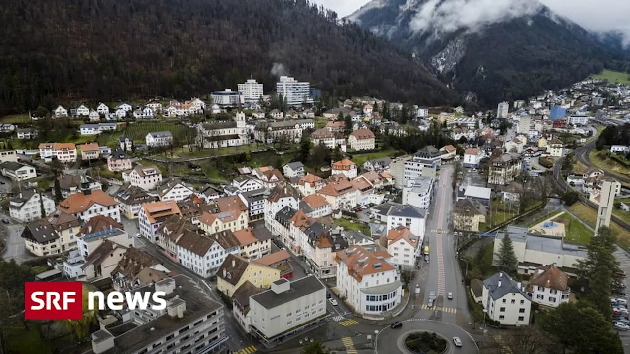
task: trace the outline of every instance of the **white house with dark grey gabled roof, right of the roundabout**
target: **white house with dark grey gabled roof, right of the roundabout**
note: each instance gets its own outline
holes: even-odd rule
[[[532,300],[525,285],[499,272],[483,281],[481,304],[487,316],[504,326],[527,326]]]

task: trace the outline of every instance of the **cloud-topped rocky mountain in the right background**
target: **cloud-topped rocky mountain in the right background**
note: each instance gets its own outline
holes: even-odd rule
[[[414,52],[483,106],[629,68],[626,55],[533,0],[373,0],[348,20]]]

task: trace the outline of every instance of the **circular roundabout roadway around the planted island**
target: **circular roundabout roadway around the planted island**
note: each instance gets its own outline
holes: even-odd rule
[[[432,321],[430,319],[408,319],[401,322],[402,328],[392,329],[389,326],[383,328],[375,338],[374,348],[375,352],[381,354],[389,353],[403,353],[413,354],[413,351],[408,350],[404,341],[410,334],[418,332],[432,332],[447,340],[447,348],[444,354],[452,353],[466,353],[476,354],[479,353],[477,343],[473,340],[473,337],[464,331],[464,329],[454,324],[444,323],[441,321]],[[453,343],[453,337],[459,337],[462,341],[461,347],[456,347]],[[398,348],[394,351],[393,348]]]

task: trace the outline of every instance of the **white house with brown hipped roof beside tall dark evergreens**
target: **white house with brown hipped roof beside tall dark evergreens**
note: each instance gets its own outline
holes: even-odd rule
[[[558,307],[566,304],[571,297],[571,288],[567,286],[569,276],[556,268],[553,263],[541,266],[529,278],[527,293],[533,302]]]

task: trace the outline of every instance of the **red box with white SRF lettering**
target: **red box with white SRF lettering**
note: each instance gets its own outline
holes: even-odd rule
[[[83,318],[81,282],[24,283],[25,319]]]

